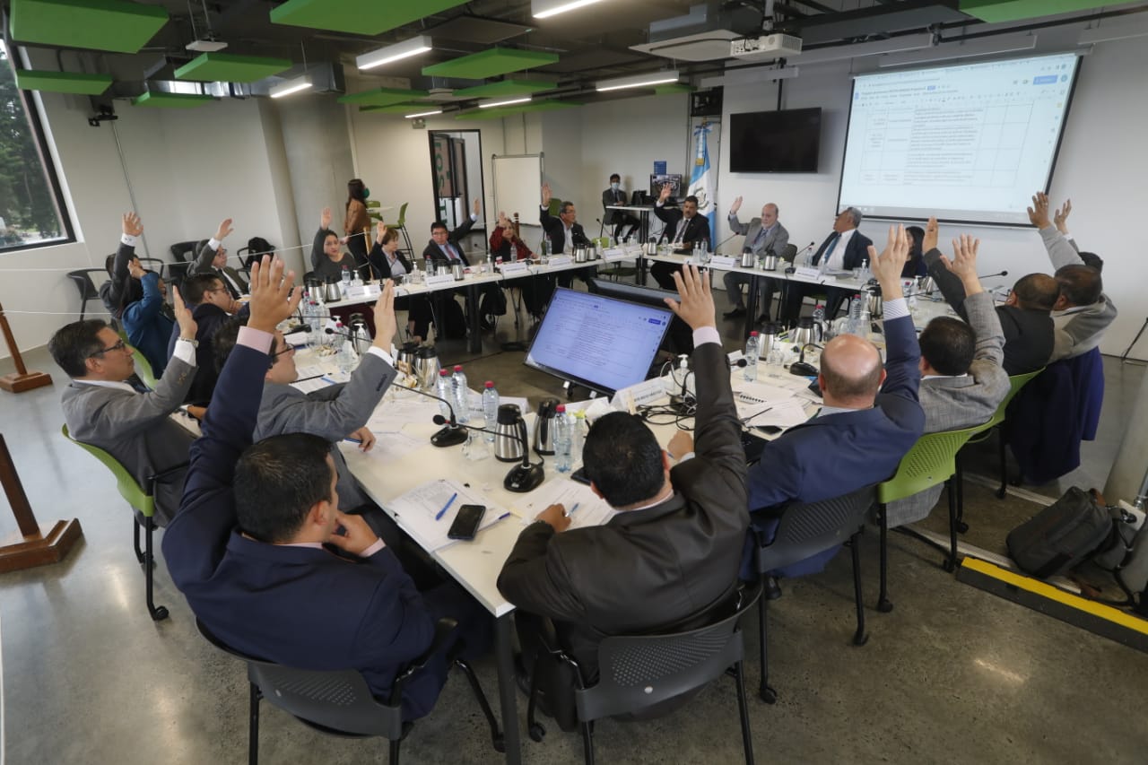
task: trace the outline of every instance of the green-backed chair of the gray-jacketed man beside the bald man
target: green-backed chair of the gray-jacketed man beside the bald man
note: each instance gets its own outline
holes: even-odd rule
[[[956,489],[953,477],[956,474],[956,453],[961,450],[974,434],[980,432],[984,425],[967,427],[960,431],[941,431],[925,433],[913,448],[901,457],[897,473],[887,481],[877,484],[877,516],[881,520],[881,595],[877,597],[877,610],[889,612],[893,604],[889,600],[889,523],[885,510],[890,502],[924,492],[928,488],[945,484],[948,486],[948,557],[941,564],[945,571],[956,567]],[[913,534],[913,532],[909,532]],[[931,540],[916,535],[933,544]],[[941,548],[944,549],[944,548]]]

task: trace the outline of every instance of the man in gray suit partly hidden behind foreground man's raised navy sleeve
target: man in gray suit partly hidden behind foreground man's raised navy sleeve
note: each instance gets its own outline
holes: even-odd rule
[[[351,476],[338,445],[343,439],[352,439],[364,451],[371,450],[374,434],[367,430],[366,422],[396,377],[395,362],[387,353],[395,337],[395,314],[385,310],[383,303],[379,300],[374,304],[374,342],[363,354],[347,384],[332,385],[311,394],[292,387],[297,376],[295,353],[281,332],[276,332],[272,363],[263,382],[254,440],[257,442],[284,433],[310,433],[329,441],[331,458],[339,473],[335,486],[339,509],[343,512],[352,512],[370,504],[371,500]],[[216,334],[216,365],[220,370],[235,347],[242,324],[242,320],[231,322]]]

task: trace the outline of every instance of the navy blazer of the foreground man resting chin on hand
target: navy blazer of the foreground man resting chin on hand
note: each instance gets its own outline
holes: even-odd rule
[[[267,354],[236,346],[192,447],[179,515],[163,535],[171,579],[195,616],[251,656],[311,670],[355,667],[386,698],[396,669],[430,644],[434,621],[389,548],[350,563],[324,549],[243,536],[232,490],[251,443]],[[445,674],[404,686],[404,717],[425,714]]]

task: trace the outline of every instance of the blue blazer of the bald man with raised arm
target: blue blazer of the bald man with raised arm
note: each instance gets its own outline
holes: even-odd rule
[[[820,502],[878,484],[897,472],[901,457],[925,426],[917,397],[921,348],[912,316],[885,320],[885,345],[886,378],[874,407],[814,417],[768,442],[761,461],[750,469],[751,510]],[[777,516],[754,512],[753,525],[769,535],[777,528]],[[828,557],[815,559],[823,563]],[[798,566],[801,564],[786,573],[807,572]],[[750,571],[748,540],[742,575],[757,577]]]

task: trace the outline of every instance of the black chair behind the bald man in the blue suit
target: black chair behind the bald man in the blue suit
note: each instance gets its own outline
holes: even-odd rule
[[[853,595],[856,600],[858,628],[853,633],[853,644],[864,646],[869,635],[864,632],[864,604],[861,600],[861,556],[858,549],[866,515],[874,503],[874,487],[866,486],[852,494],[845,494],[821,502],[796,502],[782,511],[773,541],[767,542],[762,532],[754,530],[757,544],[753,561],[762,584],[766,577],[778,569],[800,563],[820,552],[848,541],[853,554]],[[759,609],[761,620],[761,686],[758,689],[767,704],[777,701],[777,691],[769,686],[769,662],[766,633],[766,601]]]

